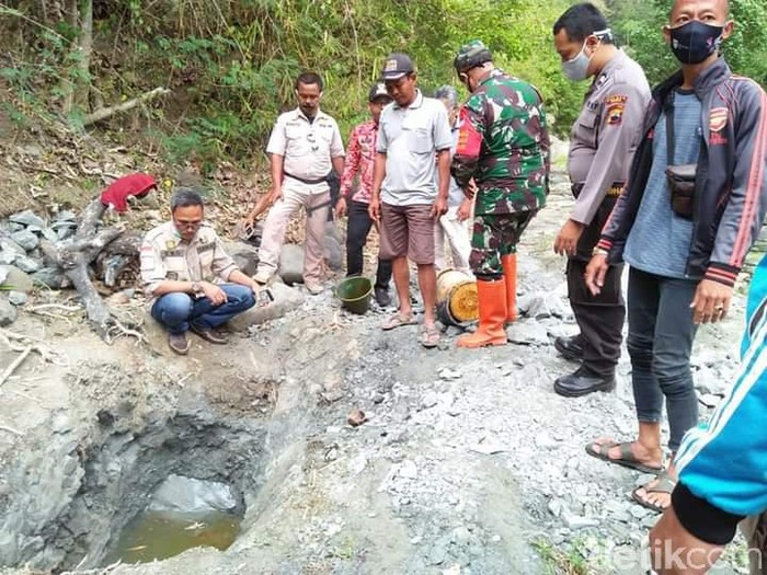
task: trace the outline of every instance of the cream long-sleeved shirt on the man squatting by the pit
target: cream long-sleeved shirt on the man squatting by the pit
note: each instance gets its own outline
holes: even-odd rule
[[[221,240],[207,222],[203,222],[192,241],[179,235],[172,221],[158,226],[141,243],[141,280],[150,302],[160,281],[220,283],[239,269],[225,251]]]

